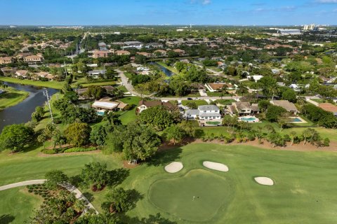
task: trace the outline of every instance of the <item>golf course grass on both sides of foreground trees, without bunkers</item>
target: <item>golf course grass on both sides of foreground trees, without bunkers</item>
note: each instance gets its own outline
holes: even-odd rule
[[[102,153],[41,157],[37,151],[16,155],[5,151],[0,158],[0,186],[41,179],[60,162],[70,176],[91,161],[122,167],[117,155]],[[175,161],[183,168],[166,172],[164,167]],[[224,164],[229,170],[206,168],[204,161]],[[274,185],[263,186],[256,176],[269,177]],[[336,153],[189,144],[130,169],[121,186],[142,195],[136,208],[128,211],[131,217],[161,214],[173,223],[336,223],[336,183]],[[83,191],[102,211],[105,193]],[[32,214],[27,206],[34,209],[41,203],[25,188],[0,191],[0,198],[0,216],[13,216],[11,223],[22,223]]]

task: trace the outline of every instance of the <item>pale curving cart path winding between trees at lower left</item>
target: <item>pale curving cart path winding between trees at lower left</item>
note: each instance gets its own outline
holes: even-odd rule
[[[18,182],[18,183],[11,183],[11,184],[8,184],[8,185],[5,185],[5,186],[0,186],[0,191],[11,189],[11,188],[22,187],[22,186],[29,186],[29,185],[33,185],[33,184],[42,184],[46,181],[47,181],[46,179],[39,179],[39,180],[21,181],[21,182]],[[60,186],[67,189],[70,193],[75,193],[75,197],[78,200],[84,200],[84,202],[86,202],[86,208],[84,209],[83,214],[85,214],[86,211],[88,211],[88,209],[93,209],[93,210],[95,210],[96,214],[98,214],[98,211],[95,209],[95,207],[93,207],[93,204],[91,204],[86,199],[86,197],[84,197],[84,195],[82,195],[81,191],[79,191],[79,189],[77,189],[75,186],[73,186],[70,183],[62,183],[62,184],[60,184]]]

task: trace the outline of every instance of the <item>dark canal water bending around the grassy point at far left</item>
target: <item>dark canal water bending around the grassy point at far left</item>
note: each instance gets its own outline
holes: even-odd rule
[[[37,106],[43,106],[46,103],[43,87],[35,87],[32,85],[20,85],[15,83],[5,83],[17,90],[29,92],[29,97],[15,106],[0,111],[0,132],[6,125],[27,123],[32,119],[32,113]],[[51,96],[58,92],[58,90],[47,88],[48,94]]]

